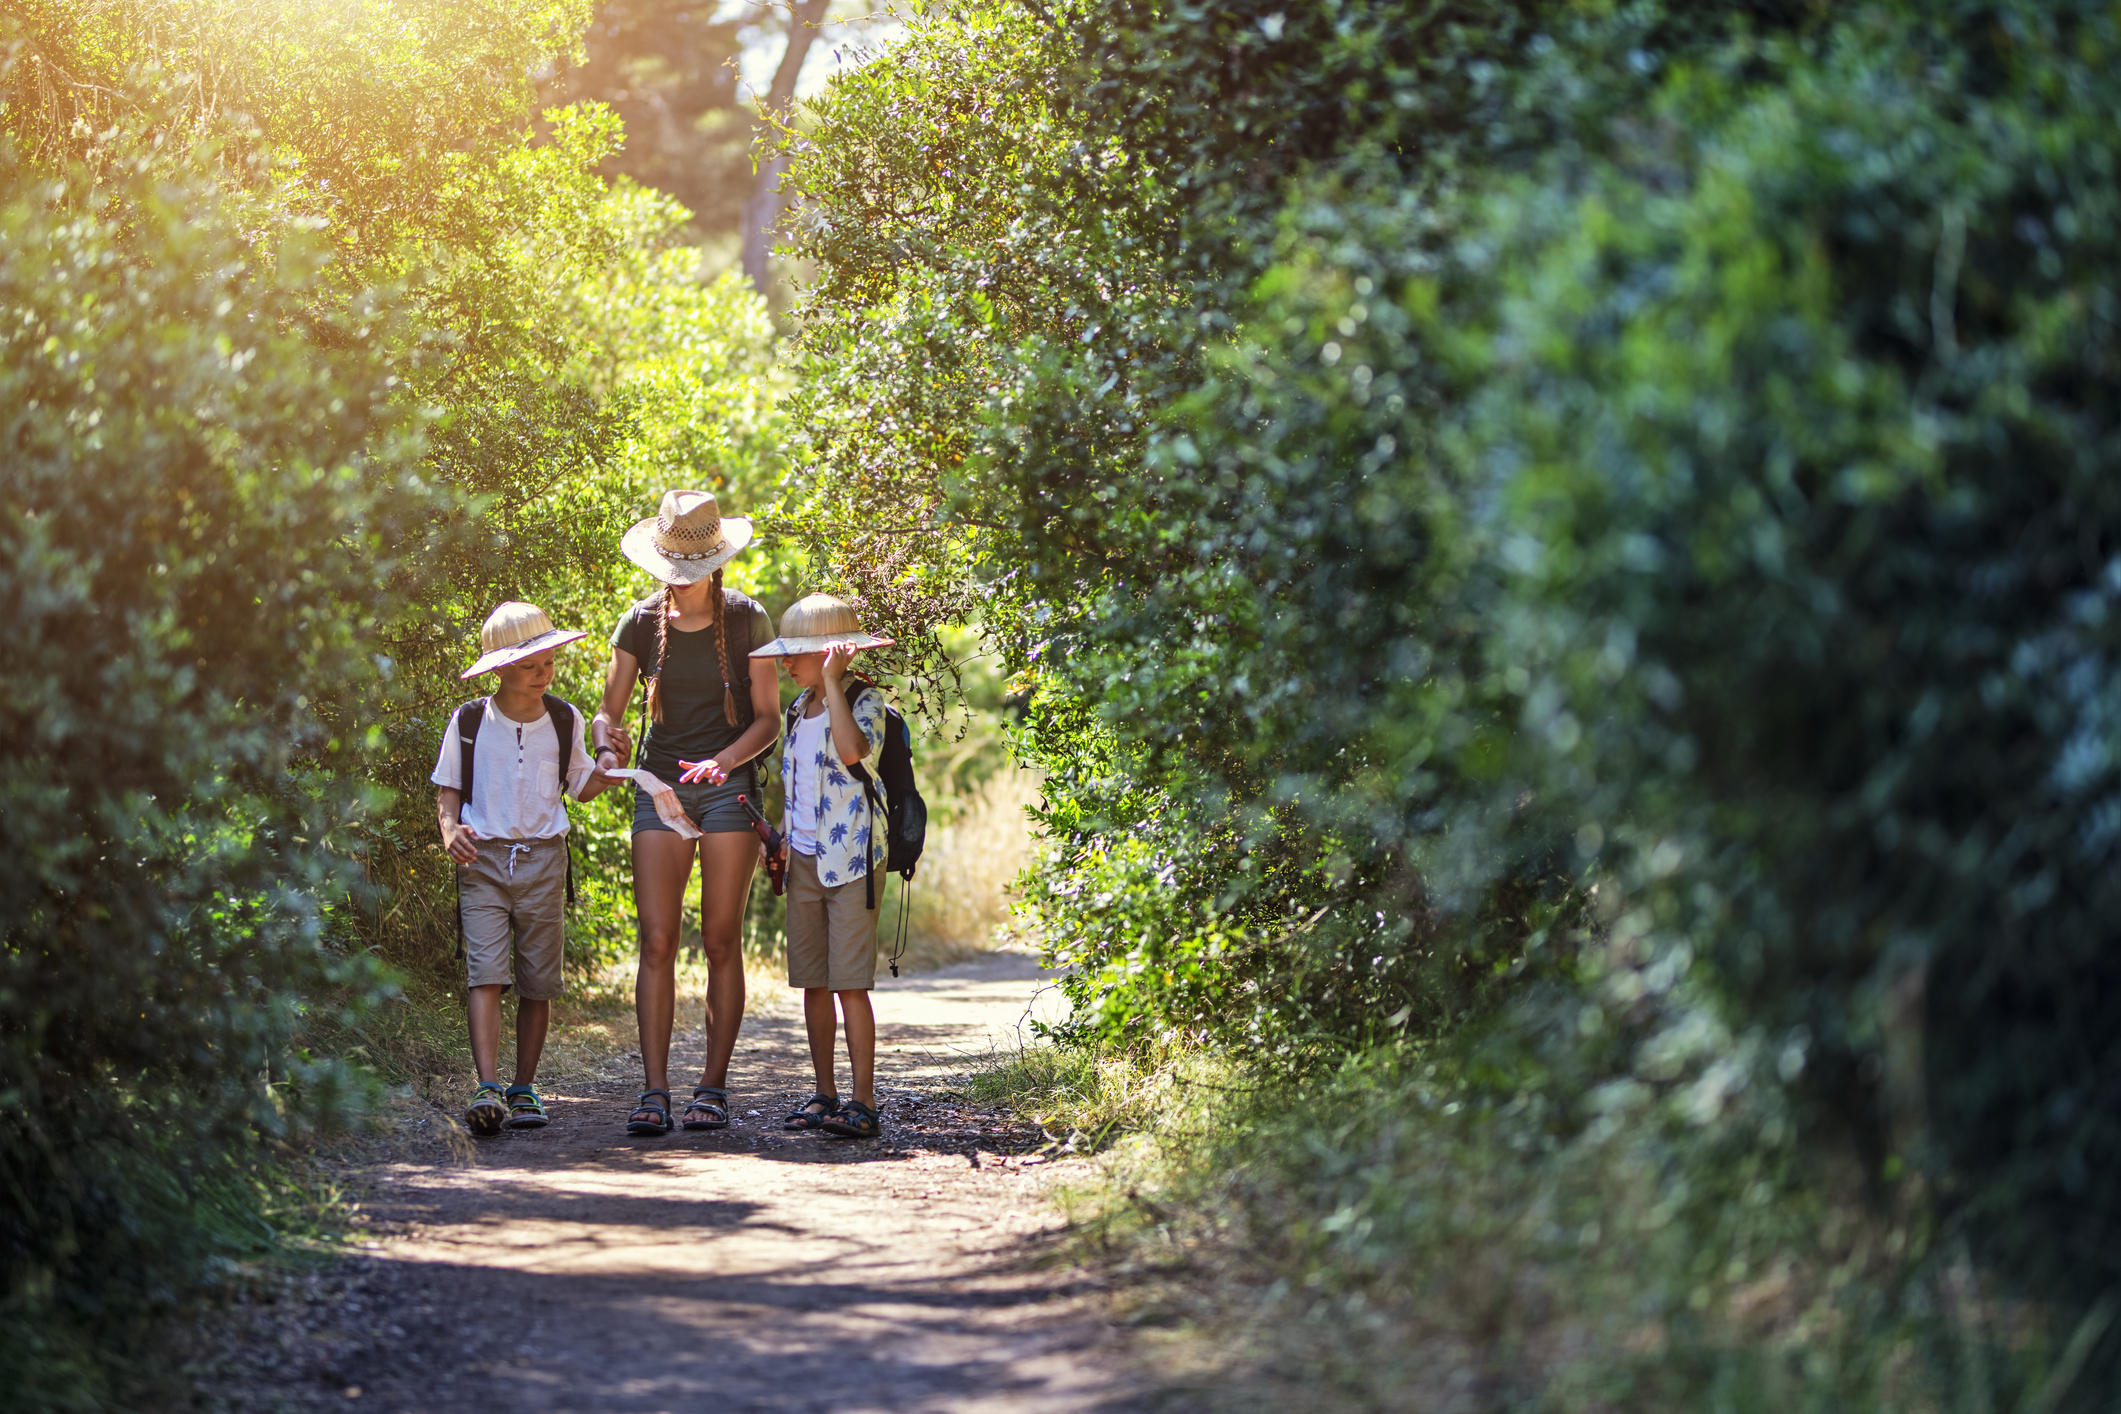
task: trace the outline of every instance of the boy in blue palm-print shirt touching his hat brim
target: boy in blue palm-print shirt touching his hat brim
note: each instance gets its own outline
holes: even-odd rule
[[[884,740],[884,695],[846,693],[846,666],[861,649],[889,638],[863,634],[855,608],[829,594],[795,602],[781,619],[781,638],[751,657],[778,657],[804,691],[789,706],[781,746],[787,797],[783,854],[789,899],[789,986],[802,988],[804,1030],[817,1094],[785,1119],[787,1130],[825,1130],[844,1138],[876,1138],[876,916],[867,873],[884,871],[884,831],[870,820],[867,793],[848,770]],[[831,1066],[834,998],[846,1020],[846,1058],[855,1096],[840,1100]]]

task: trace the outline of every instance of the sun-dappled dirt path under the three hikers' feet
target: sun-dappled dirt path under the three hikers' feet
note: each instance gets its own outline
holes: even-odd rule
[[[995,954],[880,982],[882,1141],[778,1130],[810,1092],[789,1005],[744,1024],[730,1130],[628,1138],[630,1071],[556,1085],[545,1130],[386,1166],[380,1236],[312,1295],[329,1321],[282,1321],[282,1391],[403,1414],[1145,1408],[1097,1293],[1039,1259],[1050,1168],[1022,1155],[1046,1141],[944,1098],[1016,1043],[1044,975]],[[674,1062],[696,1073],[698,1043]]]

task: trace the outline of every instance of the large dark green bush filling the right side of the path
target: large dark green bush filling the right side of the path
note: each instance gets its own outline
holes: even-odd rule
[[[908,509],[1037,685],[1077,1020],[1801,1138],[2100,1310],[2117,57],[2096,4],[1086,2],[840,78],[808,386],[876,432],[806,494]]]

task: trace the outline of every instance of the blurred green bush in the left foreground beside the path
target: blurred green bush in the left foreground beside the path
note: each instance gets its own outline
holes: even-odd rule
[[[314,237],[261,248],[212,153],[104,159],[0,148],[0,1302],[32,1408],[108,1384],[40,1344],[269,1236],[257,1136],[354,1085],[288,1045],[382,990],[325,945],[375,744],[329,723],[388,676],[450,507],[354,337],[401,316],[320,299]]]

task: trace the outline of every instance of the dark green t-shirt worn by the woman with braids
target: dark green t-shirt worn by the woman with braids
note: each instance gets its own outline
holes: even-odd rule
[[[766,606],[753,598],[736,594],[723,596],[730,617],[725,623],[730,640],[730,661],[715,664],[715,630],[700,628],[683,632],[670,628],[662,708],[664,719],[649,723],[641,742],[641,767],[655,772],[668,782],[677,782],[679,761],[706,761],[744,733],[751,706],[751,659],[749,649],[772,642],[774,621]],[[641,600],[611,630],[611,647],[626,649],[641,661],[643,678],[655,672],[655,615],[662,611],[662,591]],[[749,621],[751,632],[740,632]],[[740,723],[732,723],[721,710],[721,685],[728,683],[736,695]]]

